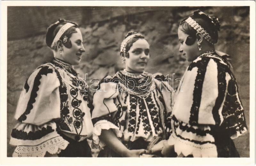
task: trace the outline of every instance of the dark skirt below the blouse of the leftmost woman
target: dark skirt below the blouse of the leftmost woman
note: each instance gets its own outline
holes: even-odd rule
[[[87,142],[87,139],[78,142],[64,134],[59,134],[64,140],[69,142],[67,148],[61,150],[61,152],[58,154],[59,157],[92,157],[91,148]]]

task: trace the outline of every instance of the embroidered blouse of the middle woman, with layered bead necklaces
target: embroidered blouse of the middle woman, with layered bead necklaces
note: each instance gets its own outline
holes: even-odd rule
[[[92,147],[105,146],[99,139],[102,129],[111,129],[123,143],[139,138],[147,142],[158,136],[167,138],[171,95],[172,88],[162,74],[122,70],[114,77],[106,77],[93,96]]]

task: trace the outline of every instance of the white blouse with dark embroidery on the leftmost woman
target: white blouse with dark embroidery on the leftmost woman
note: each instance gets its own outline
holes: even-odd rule
[[[15,113],[19,123],[11,134],[10,144],[17,146],[13,156],[60,152],[68,141],[59,133],[76,141],[92,136],[88,93],[78,80],[73,66],[56,58],[29,76]]]

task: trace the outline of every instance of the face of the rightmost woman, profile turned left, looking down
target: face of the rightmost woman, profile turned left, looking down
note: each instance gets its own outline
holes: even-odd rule
[[[186,40],[189,40],[188,36],[189,35],[181,31],[180,28],[178,29],[178,37],[180,40],[179,51],[186,57],[188,61],[194,61],[200,55],[200,52],[197,47],[197,40],[195,40],[194,43],[191,43],[191,45],[186,44],[188,43]]]

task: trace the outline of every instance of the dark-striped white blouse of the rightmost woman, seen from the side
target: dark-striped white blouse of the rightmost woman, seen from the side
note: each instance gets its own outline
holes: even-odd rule
[[[247,126],[226,58],[212,51],[188,66],[175,94],[171,124],[168,144],[178,156],[239,156],[230,138],[245,133]]]

